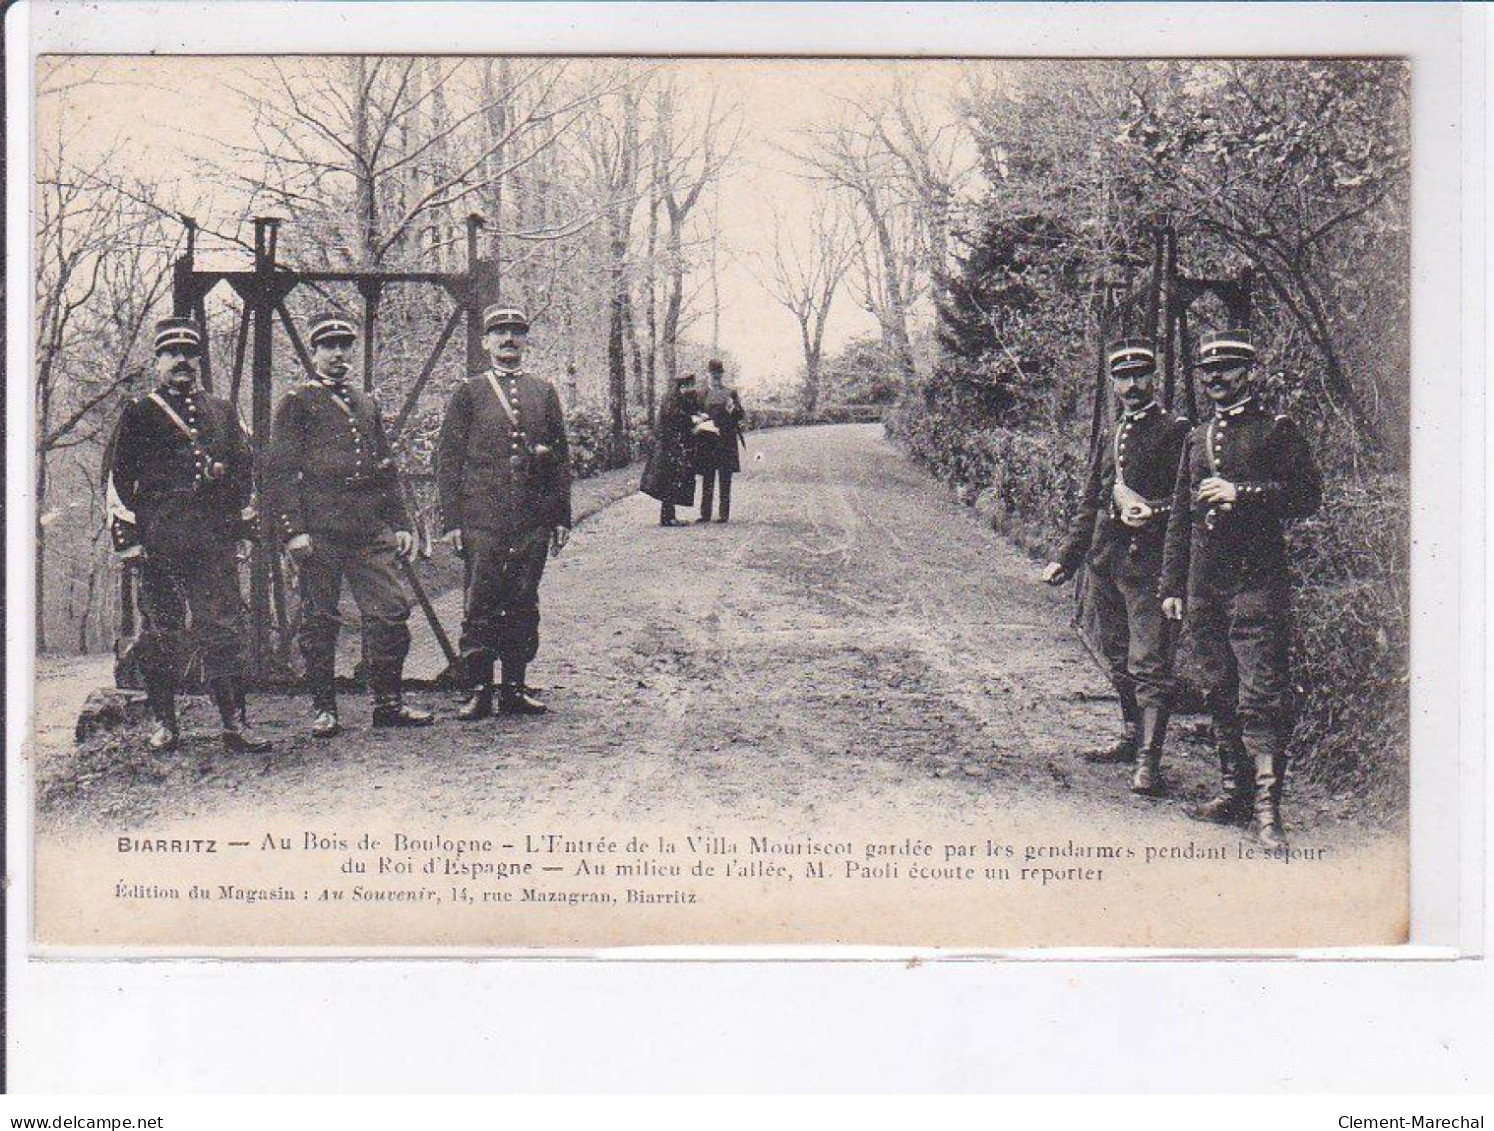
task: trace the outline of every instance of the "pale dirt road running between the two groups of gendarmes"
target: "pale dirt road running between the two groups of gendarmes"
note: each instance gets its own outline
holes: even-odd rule
[[[188,726],[209,737],[170,763],[118,740],[43,744],[48,820],[142,823],[288,798],[309,814],[376,802],[442,819],[683,811],[780,825],[884,805],[946,817],[1077,805],[1209,834],[1179,813],[1212,786],[1197,743],[1174,743],[1167,801],[1135,799],[1123,768],[1076,757],[1113,734],[1116,710],[1068,629],[1070,592],[1035,584],[1034,563],[880,426],[751,445],[731,524],[660,529],[635,495],[551,562],[533,669],[548,717],[463,726],[448,696],[424,693],[445,716],[438,729],[372,732],[350,696],[350,734],[320,744],[303,701],[261,698],[276,752],[230,762],[196,702]],[[438,602],[453,629],[459,602]],[[411,672],[438,668],[433,642],[417,641]],[[1334,816],[1300,804],[1315,825]]]

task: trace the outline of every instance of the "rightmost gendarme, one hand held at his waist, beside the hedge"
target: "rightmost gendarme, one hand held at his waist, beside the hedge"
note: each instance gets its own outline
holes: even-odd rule
[[[1249,333],[1213,330],[1198,353],[1215,411],[1177,468],[1161,589],[1168,616],[1188,619],[1219,747],[1222,795],[1194,816],[1231,823],[1253,810],[1256,837],[1277,847],[1292,725],[1282,524],[1318,509],[1322,480],[1291,418],[1250,394]]]

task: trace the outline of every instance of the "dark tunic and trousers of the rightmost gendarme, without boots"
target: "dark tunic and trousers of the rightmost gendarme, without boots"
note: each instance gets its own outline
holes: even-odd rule
[[[1231,505],[1198,501],[1209,477]],[[1204,692],[1246,731],[1289,722],[1291,577],[1282,526],[1322,503],[1322,478],[1291,418],[1253,397],[1198,424],[1177,466],[1162,560],[1164,598],[1183,598]]]

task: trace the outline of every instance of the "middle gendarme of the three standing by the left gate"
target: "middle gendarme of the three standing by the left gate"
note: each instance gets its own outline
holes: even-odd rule
[[[272,514],[300,569],[297,644],[318,738],[341,729],[335,657],[344,580],[363,617],[374,726],[433,722],[402,696],[409,601],[399,557],[409,557],[414,535],[378,403],[348,381],[356,341],[356,324],[341,314],[311,323],[317,375],[290,390],[275,409],[267,462]]]

